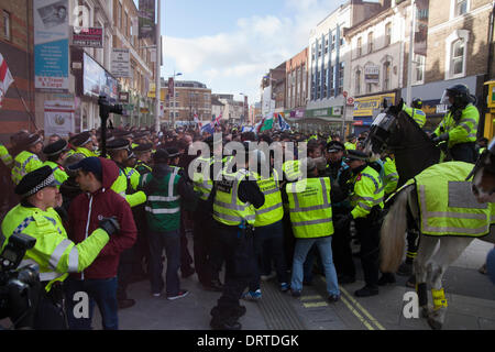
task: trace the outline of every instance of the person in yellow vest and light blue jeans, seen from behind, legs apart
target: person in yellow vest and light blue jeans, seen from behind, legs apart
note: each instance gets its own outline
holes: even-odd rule
[[[294,297],[300,297],[302,265],[306,255],[315,244],[324,268],[328,300],[334,302],[340,298],[340,290],[332,260],[333,222],[330,178],[318,177],[317,165],[310,157],[301,162],[301,167],[307,167],[308,178],[289,183],[285,188],[289,202],[290,223],[296,238],[290,292]]]

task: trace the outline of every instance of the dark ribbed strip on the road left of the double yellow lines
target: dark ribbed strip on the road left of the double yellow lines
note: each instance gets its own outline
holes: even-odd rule
[[[263,298],[258,306],[271,330],[307,330],[292,306],[290,295],[282,293],[273,283],[261,283]]]

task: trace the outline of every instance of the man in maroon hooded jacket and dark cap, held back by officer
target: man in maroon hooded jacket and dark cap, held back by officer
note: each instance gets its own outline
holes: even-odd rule
[[[103,329],[119,328],[117,302],[117,270],[120,253],[131,248],[138,230],[131,207],[122,196],[110,189],[119,175],[119,168],[112,161],[102,157],[86,157],[69,166],[77,170],[76,182],[84,191],[69,207],[67,233],[75,243],[84,241],[102,218],[116,217],[120,231],[110,238],[95,262],[80,274],[72,275],[65,283],[67,316],[70,329],[91,329],[95,302],[100,309]],[[89,310],[79,307],[80,294],[89,296]],[[76,309],[75,309],[76,308]]]

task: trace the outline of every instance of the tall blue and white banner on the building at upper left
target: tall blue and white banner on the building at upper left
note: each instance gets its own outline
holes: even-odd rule
[[[33,2],[34,87],[44,91],[68,90],[68,0]]]

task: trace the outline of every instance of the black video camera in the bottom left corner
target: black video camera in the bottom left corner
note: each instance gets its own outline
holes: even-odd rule
[[[32,328],[34,307],[41,290],[38,265],[19,268],[36,239],[12,234],[0,254],[0,318],[10,318],[15,329]],[[1,329],[1,327],[0,327]]]

